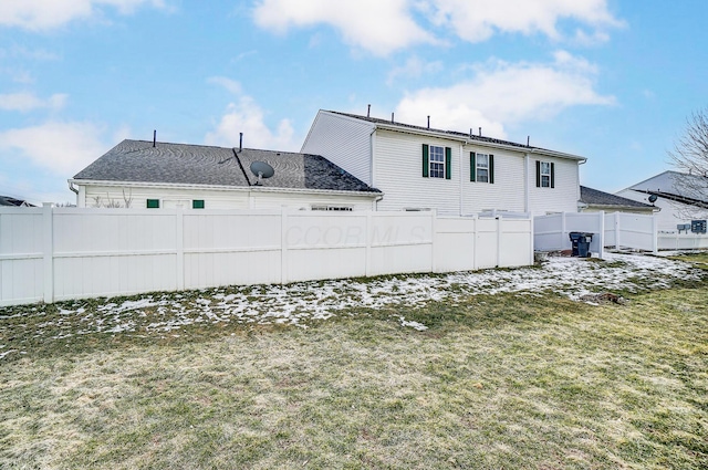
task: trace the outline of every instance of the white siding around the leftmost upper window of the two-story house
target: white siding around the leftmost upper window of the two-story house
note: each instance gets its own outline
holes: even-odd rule
[[[423,177],[423,144],[452,149],[452,178]],[[388,130],[376,130],[374,187],[384,192],[378,210],[436,209],[459,215],[460,144]]]

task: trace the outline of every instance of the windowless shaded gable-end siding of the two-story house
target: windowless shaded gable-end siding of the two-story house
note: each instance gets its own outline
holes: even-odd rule
[[[372,123],[320,111],[301,153],[321,155],[372,185]]]

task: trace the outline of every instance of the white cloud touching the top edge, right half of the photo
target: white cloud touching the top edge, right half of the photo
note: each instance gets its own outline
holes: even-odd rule
[[[542,33],[559,39],[556,23],[573,19],[590,27],[617,27],[606,0],[429,0],[434,22],[451,27],[470,42],[486,41],[496,32]]]

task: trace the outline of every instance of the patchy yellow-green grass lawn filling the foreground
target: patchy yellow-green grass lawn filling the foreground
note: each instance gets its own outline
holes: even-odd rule
[[[706,286],[38,340],[0,362],[0,468],[708,468]]]

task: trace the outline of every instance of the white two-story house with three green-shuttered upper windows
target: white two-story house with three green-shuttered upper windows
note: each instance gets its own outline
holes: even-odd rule
[[[481,133],[480,133],[481,134]],[[576,212],[585,158],[480,135],[320,111],[302,153],[322,155],[384,198],[378,210]]]

